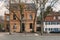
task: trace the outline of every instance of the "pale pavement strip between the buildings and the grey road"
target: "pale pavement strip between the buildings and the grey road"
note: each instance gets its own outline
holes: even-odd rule
[[[0,35],[9,35],[9,32],[0,32]],[[60,33],[12,33],[12,35],[20,35],[20,36],[60,36]]]

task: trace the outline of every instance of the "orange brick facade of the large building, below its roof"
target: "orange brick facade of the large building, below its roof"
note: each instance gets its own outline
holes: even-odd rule
[[[24,17],[23,17],[22,23],[23,23],[24,27],[22,27],[22,30],[24,32],[31,32],[32,31],[31,27],[33,27],[35,13],[36,13],[35,9],[28,10],[29,5],[30,4],[25,4],[24,11],[23,11]],[[21,18],[20,11],[19,10],[13,10],[13,11],[16,14],[16,16],[20,19]],[[16,20],[13,19],[14,13],[10,12],[9,14],[5,14],[5,22],[4,22],[5,30],[8,31],[7,30],[7,24],[9,24],[12,32],[20,32],[20,21],[18,20],[17,17],[16,17]],[[9,21],[6,20],[7,16],[9,16]],[[16,26],[15,29],[14,29],[14,25]],[[34,32],[36,32],[36,22],[35,22],[35,25],[34,25]]]

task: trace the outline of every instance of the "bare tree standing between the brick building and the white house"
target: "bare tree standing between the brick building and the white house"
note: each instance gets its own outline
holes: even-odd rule
[[[47,8],[45,8],[46,3],[48,1],[49,0],[33,0],[33,2],[36,5],[37,10],[40,8],[40,16],[39,16],[39,18],[41,18],[40,19],[40,21],[41,21],[41,35],[43,34],[43,19],[49,14],[49,12],[51,12],[51,8],[54,6],[54,4],[58,2],[58,0],[50,0],[51,1],[50,5]],[[36,17],[37,17],[37,15],[36,15]]]

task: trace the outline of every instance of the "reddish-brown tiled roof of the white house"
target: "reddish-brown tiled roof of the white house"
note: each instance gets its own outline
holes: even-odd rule
[[[60,19],[58,19],[58,16],[60,16],[59,12],[51,12],[50,15],[46,16],[44,21],[57,21],[57,22],[60,22]],[[54,19],[54,17],[56,19]]]

